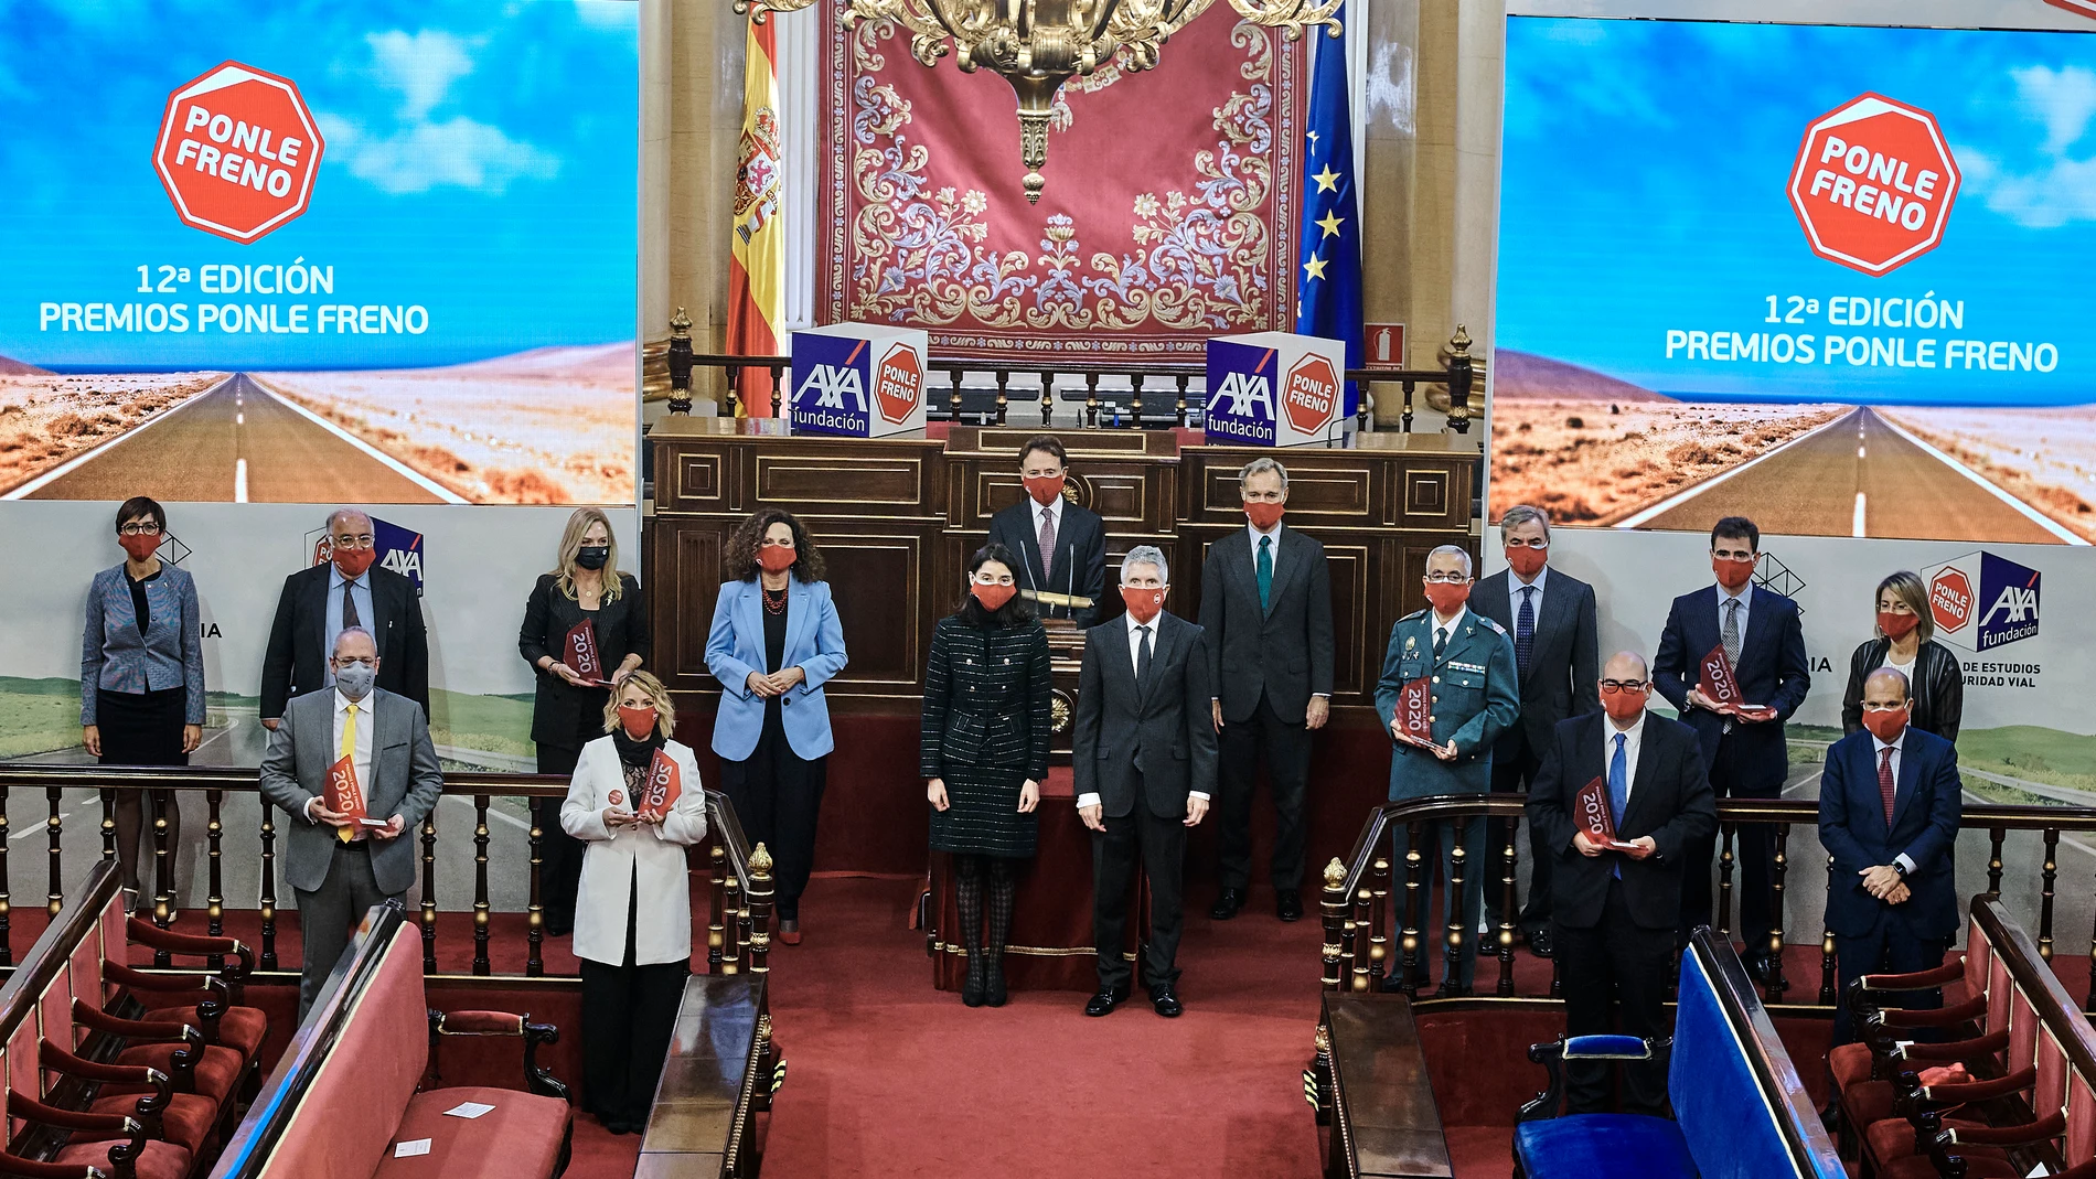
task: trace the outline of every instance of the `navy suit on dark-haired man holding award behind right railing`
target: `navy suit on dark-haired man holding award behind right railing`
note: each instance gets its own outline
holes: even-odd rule
[[[1683,725],[1696,729],[1704,766],[1710,769],[1710,789],[1719,798],[1775,798],[1790,773],[1790,743],[1784,720],[1805,704],[1813,685],[1805,662],[1805,630],[1798,626],[1798,603],[1780,593],[1750,586],[1746,632],[1740,635],[1740,660],[1733,676],[1748,704],[1775,710],[1775,720],[1744,722],[1702,708],[1689,708],[1687,693],[1702,681],[1702,660],[1723,643],[1717,614],[1717,586],[1704,586],[1675,599],[1660,632],[1660,653],[1652,660],[1652,687],[1681,712]],[[1681,936],[1710,924],[1710,857],[1717,833],[1702,840],[1683,863]],[[1748,959],[1763,953],[1763,938],[1775,921],[1775,890],[1771,888],[1773,854],[1765,823],[1740,827],[1740,938]]]

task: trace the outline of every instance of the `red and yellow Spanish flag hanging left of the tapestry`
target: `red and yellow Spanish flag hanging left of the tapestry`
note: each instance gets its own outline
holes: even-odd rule
[[[778,356],[786,318],[786,226],[780,224],[780,80],[771,21],[748,23],[742,61],[742,142],[736,165],[736,232],[727,262],[727,352]],[[746,417],[771,417],[771,371],[736,381]]]

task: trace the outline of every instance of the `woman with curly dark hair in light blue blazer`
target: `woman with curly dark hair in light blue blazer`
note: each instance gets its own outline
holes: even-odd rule
[[[721,681],[713,752],[750,846],[771,850],[780,940],[801,944],[801,892],[830,760],[822,685],[845,670],[822,553],[792,513],[765,509],[727,538],[706,668]]]

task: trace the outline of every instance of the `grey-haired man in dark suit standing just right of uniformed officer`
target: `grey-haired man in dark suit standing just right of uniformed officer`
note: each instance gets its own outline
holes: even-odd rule
[[[1518,794],[1536,781],[1551,733],[1568,716],[1601,710],[1601,676],[1593,586],[1549,565],[1551,517],[1541,507],[1515,505],[1499,517],[1507,568],[1478,582],[1469,595],[1478,614],[1513,635],[1513,664],[1522,676],[1522,722],[1492,748],[1492,794]],[[1494,821],[1492,850],[1507,846]],[[1528,907],[1522,934],[1538,955],[1551,953],[1551,863],[1557,859],[1543,833],[1528,827]],[[1499,926],[1499,890],[1486,890],[1486,921]]]

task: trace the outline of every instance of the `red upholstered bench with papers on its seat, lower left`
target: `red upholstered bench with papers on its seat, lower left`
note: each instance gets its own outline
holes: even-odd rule
[[[434,1045],[453,1035],[518,1037],[528,1091],[425,1089]],[[419,930],[398,903],[373,907],[212,1175],[551,1179],[574,1120],[566,1087],[537,1066],[558,1035],[507,1011],[432,1011]],[[467,1102],[493,1110],[446,1116]],[[402,1156],[400,1143],[425,1152]]]

